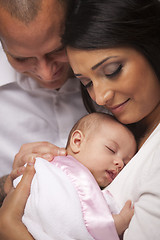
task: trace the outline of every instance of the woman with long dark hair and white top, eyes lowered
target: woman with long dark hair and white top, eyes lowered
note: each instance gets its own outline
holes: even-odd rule
[[[128,196],[135,202],[135,215],[124,239],[158,240],[160,2],[77,1],[64,42],[73,71],[85,88],[87,107],[89,93],[131,126],[137,138],[138,153],[110,187],[121,204]]]

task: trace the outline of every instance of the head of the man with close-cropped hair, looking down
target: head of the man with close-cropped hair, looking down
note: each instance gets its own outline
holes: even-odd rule
[[[41,87],[59,89],[71,75],[61,43],[72,0],[0,0],[0,41],[9,63]]]

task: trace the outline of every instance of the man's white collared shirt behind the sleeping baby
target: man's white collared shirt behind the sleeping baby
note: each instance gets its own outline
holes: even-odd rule
[[[65,147],[70,129],[85,114],[77,79],[68,79],[59,91],[44,89],[16,72],[0,46],[0,176],[11,171],[24,143]]]

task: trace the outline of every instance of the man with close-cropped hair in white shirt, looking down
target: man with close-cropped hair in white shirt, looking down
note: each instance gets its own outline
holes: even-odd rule
[[[0,0],[0,177],[24,143],[64,147],[72,125],[87,113],[61,44],[69,2]]]

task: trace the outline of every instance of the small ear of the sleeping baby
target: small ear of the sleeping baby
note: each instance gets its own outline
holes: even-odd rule
[[[84,136],[80,130],[75,130],[72,133],[70,140],[70,148],[73,153],[79,153],[81,149],[81,144],[83,142]]]

